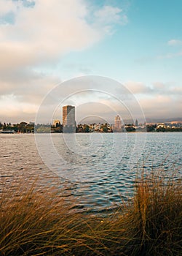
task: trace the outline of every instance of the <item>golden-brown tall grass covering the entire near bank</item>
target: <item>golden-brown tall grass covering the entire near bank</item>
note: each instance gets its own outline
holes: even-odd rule
[[[158,178],[157,178],[158,177]],[[0,255],[181,255],[181,184],[153,176],[109,216],[74,210],[55,187],[1,193]]]

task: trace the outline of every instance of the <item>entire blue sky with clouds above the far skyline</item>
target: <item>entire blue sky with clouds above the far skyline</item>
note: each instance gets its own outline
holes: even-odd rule
[[[181,17],[181,0],[0,0],[0,121],[182,118]]]

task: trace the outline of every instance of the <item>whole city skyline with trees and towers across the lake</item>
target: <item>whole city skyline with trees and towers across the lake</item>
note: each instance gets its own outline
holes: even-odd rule
[[[182,132],[182,121],[171,121],[171,122],[157,122],[157,123],[144,123],[139,124],[138,120],[135,122],[123,122],[119,115],[115,116],[114,124],[108,123],[84,123],[76,124],[74,122],[74,113],[69,116],[73,106],[64,106],[65,119],[69,119],[66,124],[61,124],[60,120],[54,120],[53,124],[33,124],[20,122],[20,124],[2,124],[0,122],[0,133],[12,134],[12,133],[87,133],[87,132]],[[64,110],[63,110],[64,112]],[[73,121],[71,121],[73,119]],[[71,124],[72,122],[72,124]]]

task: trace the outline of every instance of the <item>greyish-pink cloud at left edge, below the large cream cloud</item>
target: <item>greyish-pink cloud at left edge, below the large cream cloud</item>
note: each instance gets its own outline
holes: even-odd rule
[[[15,69],[1,74],[0,99],[4,95],[14,95],[20,102],[39,104],[41,99],[60,79],[29,69]]]

